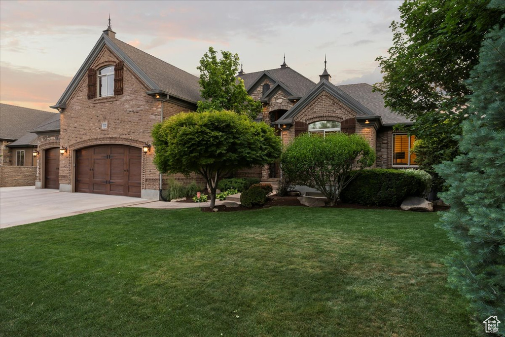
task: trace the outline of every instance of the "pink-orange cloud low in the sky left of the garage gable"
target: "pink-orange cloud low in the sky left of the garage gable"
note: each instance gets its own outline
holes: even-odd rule
[[[16,67],[7,62],[0,64],[0,100],[2,102],[25,102],[37,109],[51,111],[47,107],[55,104],[72,80],[71,77],[30,67]],[[23,105],[26,106],[26,105]]]

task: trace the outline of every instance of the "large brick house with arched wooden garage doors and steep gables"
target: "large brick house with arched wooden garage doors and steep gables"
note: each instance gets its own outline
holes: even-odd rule
[[[383,108],[368,84],[334,86],[329,74],[316,84],[285,62],[280,69],[241,70],[238,76],[264,104],[259,119],[276,126],[284,142],[299,132],[357,132],[384,152],[377,166],[393,165],[387,159],[395,136],[390,126],[409,121]],[[116,39],[109,26],[52,106],[59,121],[34,130],[40,152],[36,187],[158,200],[168,177],[153,164],[151,129],[177,113],[194,111],[199,100],[198,77]],[[333,124],[324,129],[315,122]],[[408,150],[402,151],[408,158]],[[236,176],[276,177],[276,166]],[[176,178],[203,182],[199,176]]]

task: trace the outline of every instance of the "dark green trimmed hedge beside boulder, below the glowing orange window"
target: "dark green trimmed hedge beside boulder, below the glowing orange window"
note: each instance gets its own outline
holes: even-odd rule
[[[407,197],[424,197],[425,179],[393,169],[353,171],[356,177],[342,190],[344,203],[366,206],[400,206]]]

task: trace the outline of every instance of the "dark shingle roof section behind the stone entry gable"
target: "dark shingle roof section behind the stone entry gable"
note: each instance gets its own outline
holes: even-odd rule
[[[289,67],[265,71],[274,76],[275,79],[284,83],[291,91],[299,96],[305,96],[316,85],[316,83]],[[250,86],[253,85],[263,73],[264,71],[257,71],[254,73],[246,73],[238,77],[244,80],[244,86],[249,90],[251,89]]]

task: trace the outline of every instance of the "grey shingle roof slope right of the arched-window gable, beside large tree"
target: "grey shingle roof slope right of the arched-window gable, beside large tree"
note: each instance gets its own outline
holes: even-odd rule
[[[412,120],[395,114],[384,107],[384,98],[380,92],[372,92],[372,86],[367,83],[336,85],[350,97],[363,104],[376,115],[381,116],[384,125],[412,124]]]

